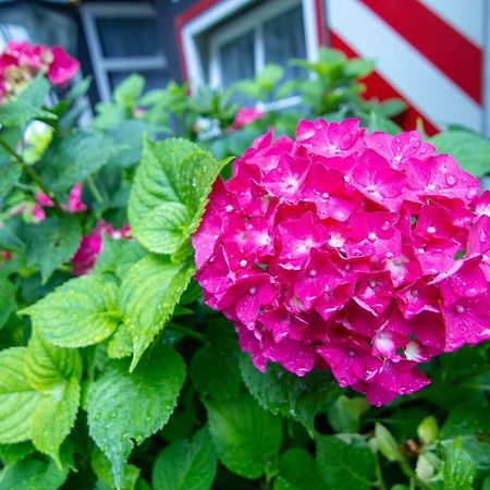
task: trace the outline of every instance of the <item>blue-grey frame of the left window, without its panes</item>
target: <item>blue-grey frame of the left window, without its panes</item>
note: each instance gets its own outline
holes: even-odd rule
[[[149,3],[83,3],[81,7],[82,24],[87,40],[91,68],[101,101],[111,99],[109,74],[131,71],[159,71],[168,66],[164,53],[150,57],[107,58],[102,52],[97,30],[99,19],[152,19],[158,23],[157,11]]]

